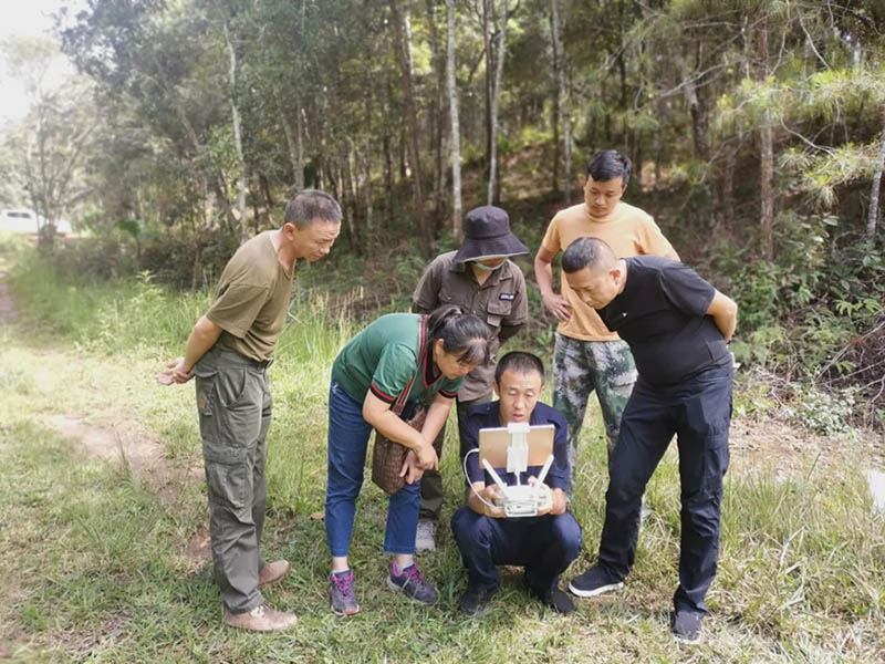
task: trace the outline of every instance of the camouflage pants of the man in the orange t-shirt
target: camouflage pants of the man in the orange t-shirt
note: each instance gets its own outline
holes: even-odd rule
[[[553,350],[553,407],[569,425],[570,485],[574,485],[577,436],[591,392],[600,400],[608,463],[612,460],[621,415],[636,382],[629,346],[621,341],[581,341],[556,333]]]

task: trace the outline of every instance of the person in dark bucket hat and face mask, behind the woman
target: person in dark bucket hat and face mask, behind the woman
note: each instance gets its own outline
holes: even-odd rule
[[[510,217],[499,207],[482,206],[467,212],[465,237],[457,251],[437,256],[424,271],[412,295],[412,310],[428,313],[442,304],[457,304],[465,313],[480,317],[491,330],[491,361],[465,377],[458,392],[458,437],[460,457],[467,454],[462,423],[475,405],[492,397],[494,355],[529,319],[525,278],[510,257],[529,252],[510,231]],[[434,447],[442,454],[445,428]],[[417,552],[436,548],[436,529],[442,509],[442,478],[436,470],[421,479],[421,504]]]

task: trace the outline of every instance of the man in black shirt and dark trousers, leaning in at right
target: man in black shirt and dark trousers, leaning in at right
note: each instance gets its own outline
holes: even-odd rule
[[[636,554],[645,485],[676,434],[683,509],[673,634],[696,643],[719,552],[731,422],[726,344],[737,304],[680,262],[656,256],[618,260],[595,238],[572,242],[562,270],[572,290],[627,342],[639,374],[610,464],[598,562],[569,590],[593,596],[623,585]]]

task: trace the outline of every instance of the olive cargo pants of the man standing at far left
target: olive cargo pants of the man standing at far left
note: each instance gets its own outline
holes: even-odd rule
[[[264,601],[258,590],[263,564],[258,544],[267,509],[269,364],[214,347],[195,367],[212,567],[225,605],[233,613]]]

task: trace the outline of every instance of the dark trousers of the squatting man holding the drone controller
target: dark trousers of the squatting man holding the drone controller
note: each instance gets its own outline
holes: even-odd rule
[[[581,526],[570,511],[562,515],[496,519],[462,507],[451,518],[451,531],[478,588],[497,588],[499,564],[525,568],[525,581],[550,590],[581,552]]]

